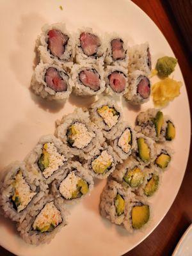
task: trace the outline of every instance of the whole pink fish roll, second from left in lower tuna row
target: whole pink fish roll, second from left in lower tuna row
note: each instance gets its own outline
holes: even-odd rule
[[[72,80],[74,93],[80,96],[99,95],[104,92],[103,68],[97,65],[74,65],[72,68]]]

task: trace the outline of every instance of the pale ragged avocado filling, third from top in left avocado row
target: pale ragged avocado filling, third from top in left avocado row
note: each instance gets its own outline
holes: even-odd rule
[[[124,180],[132,188],[136,188],[143,183],[144,174],[137,166],[132,170],[127,170],[127,173],[124,175]]]

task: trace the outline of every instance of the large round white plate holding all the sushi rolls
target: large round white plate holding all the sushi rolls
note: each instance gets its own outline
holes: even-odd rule
[[[63,6],[60,10],[59,6]],[[127,0],[2,0],[1,22],[1,169],[6,164],[22,160],[43,134],[54,132],[54,121],[74,108],[84,106],[84,100],[70,97],[68,102],[56,104],[40,100],[29,91],[35,58],[35,40],[46,23],[66,22],[76,31],[89,26],[103,33],[116,31],[127,36],[130,45],[148,41],[155,64],[159,56],[173,56],[164,36],[140,8]],[[179,66],[173,77],[183,82]],[[154,79],[155,81],[155,79]],[[89,102],[86,102],[89,103]],[[125,118],[132,124],[140,109],[123,102]],[[152,102],[141,106],[145,110]],[[22,241],[9,220],[0,219],[0,244],[17,255],[120,255],[145,237],[163,219],[179,190],[189,154],[190,116],[186,88],[164,113],[172,116],[177,127],[177,138],[172,143],[175,155],[170,170],[150,200],[152,221],[143,232],[129,235],[122,227],[111,225],[99,215],[99,196],[105,181],[96,181],[90,197],[71,209],[69,225],[63,228],[48,245],[30,246]]]

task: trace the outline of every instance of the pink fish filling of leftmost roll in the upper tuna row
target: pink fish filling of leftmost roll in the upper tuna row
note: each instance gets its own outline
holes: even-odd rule
[[[67,45],[68,36],[64,35],[57,29],[49,30],[48,36],[48,49],[51,51],[52,55],[61,58],[65,52],[65,45]]]

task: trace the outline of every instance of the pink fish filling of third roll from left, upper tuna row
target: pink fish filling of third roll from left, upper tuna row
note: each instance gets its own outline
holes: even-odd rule
[[[113,60],[123,60],[125,58],[124,41],[120,38],[113,39],[111,41],[111,49]]]

